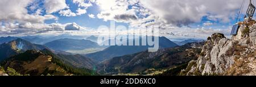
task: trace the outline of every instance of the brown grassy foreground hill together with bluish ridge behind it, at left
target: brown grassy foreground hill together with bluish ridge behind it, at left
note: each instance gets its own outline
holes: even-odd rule
[[[21,74],[36,76],[48,73],[61,76],[89,75],[97,64],[88,57],[54,51],[44,45],[32,44],[20,38],[1,44],[0,58],[0,63],[6,70],[10,67]]]

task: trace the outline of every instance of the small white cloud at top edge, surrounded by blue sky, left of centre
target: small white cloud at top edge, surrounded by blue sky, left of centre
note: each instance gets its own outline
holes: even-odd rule
[[[69,8],[65,0],[45,0],[44,7],[47,14],[55,13],[59,10]]]

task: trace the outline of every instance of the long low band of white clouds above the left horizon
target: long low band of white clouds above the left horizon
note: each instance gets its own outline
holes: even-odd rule
[[[59,32],[64,33],[65,31],[78,31],[85,29],[76,23],[4,23],[4,26],[0,27],[0,34],[3,35],[36,35],[47,32]]]

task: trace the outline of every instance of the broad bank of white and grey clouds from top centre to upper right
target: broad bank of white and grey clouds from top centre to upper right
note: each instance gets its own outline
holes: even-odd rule
[[[203,16],[222,23],[230,22],[240,9],[240,0],[129,0],[92,1],[100,6],[98,18],[125,22],[131,26],[160,24],[161,26],[189,26],[199,23]],[[245,7],[246,8],[246,7]],[[135,19],[137,16],[137,19]],[[133,21],[136,20],[136,21]]]

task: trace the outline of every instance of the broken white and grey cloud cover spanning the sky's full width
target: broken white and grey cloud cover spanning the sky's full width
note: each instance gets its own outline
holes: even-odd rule
[[[168,34],[175,36],[199,36],[200,33],[224,32],[218,29],[183,28],[191,23],[201,23],[202,17],[210,22],[202,23],[203,26],[211,26],[213,23],[229,23],[236,17],[240,9],[240,0],[72,0],[78,7],[71,11],[65,0],[44,0],[43,7],[34,5],[34,0],[2,0],[0,2],[0,28],[5,34],[19,32],[48,32],[81,30],[76,23],[45,24],[48,19],[58,19],[52,13],[62,16],[77,16],[86,14],[88,7],[97,5],[100,13],[88,14],[90,18],[115,20],[128,23],[133,27],[144,27],[159,24],[163,31],[172,31]],[[92,4],[93,3],[93,4]],[[246,1],[247,3],[247,1]],[[39,5],[39,4],[38,4]],[[27,7],[29,6],[29,7]],[[33,10],[27,11],[27,9]],[[244,7],[244,9],[247,9]],[[42,12],[46,12],[46,14]],[[244,10],[245,11],[245,10]],[[28,14],[30,13],[30,14]],[[244,12],[243,12],[244,13]],[[2,23],[3,22],[3,23]],[[76,26],[77,25],[77,26]],[[174,28],[175,27],[175,28]],[[191,32],[189,32],[191,31]],[[73,31],[69,31],[73,32]],[[204,36],[209,36],[204,35]]]

